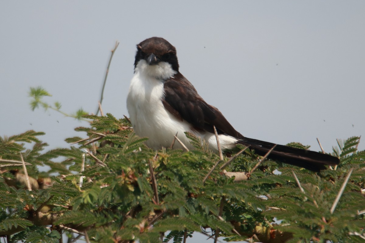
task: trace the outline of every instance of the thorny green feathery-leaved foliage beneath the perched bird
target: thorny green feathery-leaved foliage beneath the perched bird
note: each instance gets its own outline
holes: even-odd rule
[[[38,99],[47,94],[42,89],[32,92]],[[364,234],[364,213],[358,212],[364,210],[365,152],[357,151],[358,137],[338,142],[334,154],[341,164],[332,170],[314,173],[268,160],[248,180],[234,181],[218,166],[203,183],[219,156],[192,134],[187,136],[196,150],[156,153],[126,119],[111,114],[83,118],[91,120],[90,127],[76,130],[87,132],[88,138],[67,139],[76,143],[70,148],[43,152],[43,133],[34,131],[0,137],[0,158],[20,162],[22,153],[30,164],[29,176],[39,184],[28,191],[16,181],[24,175],[21,164],[1,171],[0,236],[11,236],[11,242],[59,242],[62,232],[73,229],[87,232],[90,242],[182,242],[193,232],[214,234],[219,229],[227,241],[255,235],[261,242],[360,242],[354,232]],[[24,142],[34,145],[25,149]],[[55,162],[58,157],[64,160]],[[257,156],[247,150],[225,169],[247,172],[256,163]],[[49,171],[40,172],[43,165]],[[353,174],[331,214],[350,168]],[[273,173],[275,169],[281,174]],[[275,218],[282,223],[275,224]]]

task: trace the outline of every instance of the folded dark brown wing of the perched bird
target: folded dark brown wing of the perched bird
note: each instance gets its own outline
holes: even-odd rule
[[[178,72],[164,83],[165,97],[162,103],[178,119],[184,119],[200,131],[242,137],[214,106],[208,105],[197,93],[194,86]]]

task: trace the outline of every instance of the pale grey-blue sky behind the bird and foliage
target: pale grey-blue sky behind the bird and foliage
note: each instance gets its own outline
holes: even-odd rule
[[[0,136],[36,130],[49,149],[87,126],[31,111],[42,86],[62,111],[128,116],[136,44],[177,49],[180,72],[246,137],[326,152],[365,134],[365,1],[1,1]],[[360,142],[359,149],[365,149]],[[194,238],[193,238],[194,239]],[[190,242],[194,242],[194,240]]]

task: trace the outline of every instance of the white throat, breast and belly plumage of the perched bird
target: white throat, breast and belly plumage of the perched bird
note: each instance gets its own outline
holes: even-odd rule
[[[192,130],[188,122],[178,120],[162,104],[163,80],[174,74],[176,72],[168,63],[161,62],[158,65],[150,66],[145,60],[139,61],[127,98],[127,108],[134,132],[140,137],[148,137],[146,145],[156,150],[170,147],[176,133],[178,133],[178,138],[189,149],[192,149],[184,132],[194,133],[208,142],[210,149],[217,150],[214,134],[198,133]],[[219,140],[224,149],[232,148],[237,142],[236,138],[226,135],[219,135]],[[175,142],[174,148],[182,148],[182,146]]]

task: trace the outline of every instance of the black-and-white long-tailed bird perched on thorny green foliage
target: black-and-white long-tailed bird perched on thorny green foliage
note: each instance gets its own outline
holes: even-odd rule
[[[169,148],[174,136],[188,149],[194,149],[185,135],[189,132],[200,137],[216,152],[215,127],[224,151],[241,144],[264,156],[275,146],[268,158],[311,171],[318,172],[326,169],[326,165],[339,164],[337,157],[328,154],[247,138],[237,132],[179,72],[176,48],[160,37],[148,38],[137,44],[127,109],[134,132],[140,137],[147,137],[145,144],[155,150]],[[183,147],[176,142],[174,149],[178,148]]]

